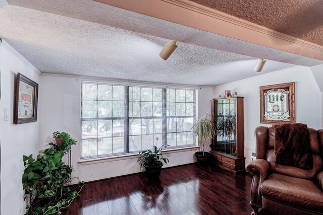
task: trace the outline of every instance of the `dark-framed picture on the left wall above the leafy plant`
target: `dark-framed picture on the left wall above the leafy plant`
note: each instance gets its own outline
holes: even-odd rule
[[[37,121],[38,84],[18,73],[15,91],[14,123]]]

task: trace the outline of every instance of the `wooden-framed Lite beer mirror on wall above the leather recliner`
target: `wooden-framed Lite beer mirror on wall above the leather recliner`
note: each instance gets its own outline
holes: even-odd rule
[[[260,87],[260,123],[295,122],[295,83]]]

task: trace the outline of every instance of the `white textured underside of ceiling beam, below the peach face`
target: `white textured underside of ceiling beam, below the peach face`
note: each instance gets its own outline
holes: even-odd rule
[[[10,5],[16,5],[37,11],[116,27],[156,37],[177,40],[206,48],[253,56],[256,58],[262,57],[274,61],[304,66],[313,66],[323,63],[321,60],[197,30],[95,1],[9,0],[8,3]]]

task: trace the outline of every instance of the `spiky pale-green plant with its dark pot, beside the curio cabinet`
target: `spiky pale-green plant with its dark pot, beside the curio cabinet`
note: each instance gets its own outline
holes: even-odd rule
[[[197,162],[200,164],[206,163],[211,158],[211,153],[204,152],[204,149],[209,146],[210,140],[217,134],[212,115],[206,113],[199,117],[192,129],[193,134],[199,140],[200,149],[202,150],[195,153]]]

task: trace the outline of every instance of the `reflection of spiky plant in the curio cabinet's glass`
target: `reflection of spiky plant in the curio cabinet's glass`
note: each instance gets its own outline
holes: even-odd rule
[[[220,136],[223,138],[226,138],[224,141],[225,143],[229,140],[230,144],[230,154],[235,155],[236,149],[232,147],[231,145],[231,138],[236,133],[236,116],[232,115],[231,112],[229,112],[228,115],[225,115],[219,120],[218,123],[218,130]]]

